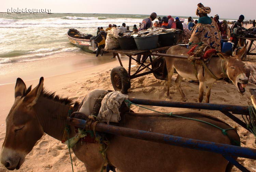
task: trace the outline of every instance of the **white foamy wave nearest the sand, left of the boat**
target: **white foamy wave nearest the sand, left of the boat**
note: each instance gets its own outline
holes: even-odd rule
[[[68,48],[63,48],[63,47],[55,47],[55,48],[40,48],[37,50],[33,51],[27,51],[20,53],[20,56],[18,57],[13,57],[12,58],[6,58],[4,56],[1,57],[0,55],[0,64],[3,63],[12,63],[12,62],[29,62],[29,61],[38,61],[38,60],[44,60],[48,59],[51,57],[48,57],[50,55],[54,55],[57,53],[62,53],[62,52],[78,52],[80,51],[80,48],[78,47],[68,47]],[[22,52],[22,51],[20,51]],[[18,54],[18,51],[16,52],[9,52],[10,54],[13,53],[13,55],[16,53]],[[44,58],[46,57],[46,58]]]

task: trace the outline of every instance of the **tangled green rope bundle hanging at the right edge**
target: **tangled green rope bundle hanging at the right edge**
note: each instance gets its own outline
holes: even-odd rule
[[[249,114],[250,114],[250,118],[248,119],[246,117],[247,120],[244,119],[245,124],[247,126],[247,129],[251,131],[251,133],[253,133],[253,135],[256,137],[256,110],[254,108],[254,106],[248,106],[248,110],[249,110]]]

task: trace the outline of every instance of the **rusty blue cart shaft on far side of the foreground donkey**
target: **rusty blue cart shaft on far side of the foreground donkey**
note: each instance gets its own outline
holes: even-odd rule
[[[173,101],[160,101],[160,100],[146,100],[129,98],[132,103],[149,106],[163,106],[173,108],[188,108],[188,109],[204,109],[232,112],[235,114],[249,115],[248,106],[238,106],[230,104],[212,104],[212,103],[196,103],[196,102],[173,102]]]

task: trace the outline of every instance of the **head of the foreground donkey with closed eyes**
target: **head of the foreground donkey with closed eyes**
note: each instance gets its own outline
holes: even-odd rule
[[[20,168],[44,133],[33,110],[42,89],[43,77],[33,90],[31,86],[27,89],[23,80],[17,78],[15,101],[6,117],[6,135],[1,152],[1,163],[9,170]]]

